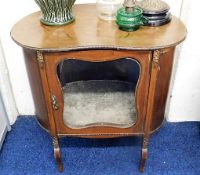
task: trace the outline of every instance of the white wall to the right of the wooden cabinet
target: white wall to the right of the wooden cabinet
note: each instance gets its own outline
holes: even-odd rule
[[[181,18],[188,30],[175,76],[168,119],[170,121],[200,121],[200,1],[185,0]]]

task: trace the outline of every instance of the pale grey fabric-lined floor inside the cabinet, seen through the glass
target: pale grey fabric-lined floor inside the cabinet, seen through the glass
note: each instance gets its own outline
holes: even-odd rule
[[[70,128],[128,128],[136,122],[135,85],[118,80],[88,80],[63,87],[63,121]]]

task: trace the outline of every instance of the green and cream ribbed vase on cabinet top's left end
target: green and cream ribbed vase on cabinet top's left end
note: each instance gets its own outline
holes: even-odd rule
[[[72,6],[75,0],[34,0],[40,7],[40,21],[46,25],[64,25],[74,21]]]

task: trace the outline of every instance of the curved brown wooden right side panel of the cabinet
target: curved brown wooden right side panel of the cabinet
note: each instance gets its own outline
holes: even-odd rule
[[[170,84],[175,48],[160,51],[159,74],[156,81],[154,107],[151,122],[151,132],[161,127],[164,121],[165,106]]]

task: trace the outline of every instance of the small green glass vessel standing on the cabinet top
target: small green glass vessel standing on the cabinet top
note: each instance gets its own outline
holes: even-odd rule
[[[135,31],[139,29],[141,25],[144,25],[144,21],[147,20],[142,15],[143,11],[139,7],[134,7],[132,12],[127,12],[124,7],[117,11],[116,23],[119,29],[124,31]]]

